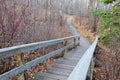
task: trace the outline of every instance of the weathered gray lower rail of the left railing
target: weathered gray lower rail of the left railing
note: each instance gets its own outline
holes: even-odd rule
[[[65,46],[65,47],[63,47],[61,49],[56,50],[56,51],[53,51],[53,52],[51,52],[51,53],[49,53],[47,55],[44,55],[44,56],[42,56],[40,58],[32,60],[32,61],[30,61],[30,62],[28,62],[28,63],[26,63],[26,64],[24,64],[24,65],[22,65],[20,67],[12,69],[11,71],[0,75],[0,80],[9,80],[10,78],[12,78],[12,77],[16,76],[17,74],[27,70],[28,68],[31,68],[31,67],[33,67],[33,66],[35,66],[35,65],[49,59],[49,58],[51,58],[51,57],[54,57],[55,55],[60,54],[65,49],[71,48],[71,46],[73,47],[74,43],[69,44],[69,45],[67,45],[67,46]]]

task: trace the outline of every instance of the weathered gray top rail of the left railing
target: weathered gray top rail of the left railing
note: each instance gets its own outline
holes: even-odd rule
[[[43,48],[43,47],[47,47],[49,45],[54,45],[54,44],[57,44],[60,42],[65,42],[65,41],[68,41],[68,40],[74,39],[74,38],[79,38],[79,35],[3,48],[3,49],[0,49],[0,59],[11,57],[11,56],[17,55],[19,53],[28,52],[30,50],[34,50],[37,48]],[[79,42],[76,42],[76,43],[79,43]]]

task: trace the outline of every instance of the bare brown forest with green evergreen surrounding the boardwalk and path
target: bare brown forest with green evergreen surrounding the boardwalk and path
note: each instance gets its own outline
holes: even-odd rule
[[[91,43],[96,35],[99,36],[94,52],[93,80],[119,80],[119,0],[0,0],[0,51],[22,44],[71,36],[67,23],[71,16],[72,24],[79,34]],[[61,46],[63,43],[32,50],[21,56],[27,63]],[[0,75],[18,67],[19,56],[0,59]],[[47,72],[45,67],[51,66],[51,62],[60,56],[26,70],[27,79],[31,80],[35,72]],[[19,78],[17,75],[10,80],[22,80]]]

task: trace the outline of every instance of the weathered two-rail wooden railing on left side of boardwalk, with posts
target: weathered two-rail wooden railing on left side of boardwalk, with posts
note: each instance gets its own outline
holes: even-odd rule
[[[64,46],[58,50],[55,50],[47,55],[39,57],[39,58],[32,60],[30,62],[27,62],[25,64],[23,64],[21,62],[22,61],[21,54],[24,54],[25,52],[35,50],[38,48],[44,48],[44,47],[54,45],[57,43],[61,43],[61,42],[67,42],[67,41],[72,40],[72,39],[74,39],[74,42],[67,45],[67,46]],[[36,42],[36,43],[31,43],[31,44],[24,44],[24,45],[0,49],[0,59],[12,57],[12,56],[17,56],[18,61],[20,62],[19,67],[14,68],[14,69],[12,69],[4,74],[1,74],[0,80],[9,80],[9,79],[15,77],[16,75],[22,73],[23,71],[43,62],[51,57],[54,57],[57,54],[62,54],[62,52],[64,50],[69,49],[69,48],[73,48],[73,47],[79,45],[79,39],[80,39],[80,36],[76,35],[76,36],[71,36],[71,37],[66,37],[66,38],[60,38],[60,39],[54,39],[54,40],[49,40],[49,41]]]

